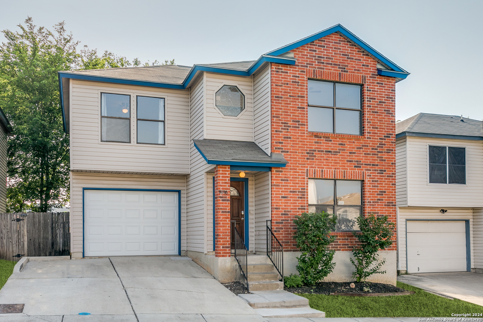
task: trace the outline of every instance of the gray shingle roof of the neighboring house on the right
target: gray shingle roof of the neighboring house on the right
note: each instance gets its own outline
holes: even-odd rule
[[[424,133],[440,135],[458,135],[483,137],[482,121],[461,116],[419,113],[396,124],[396,135],[406,133]]]

